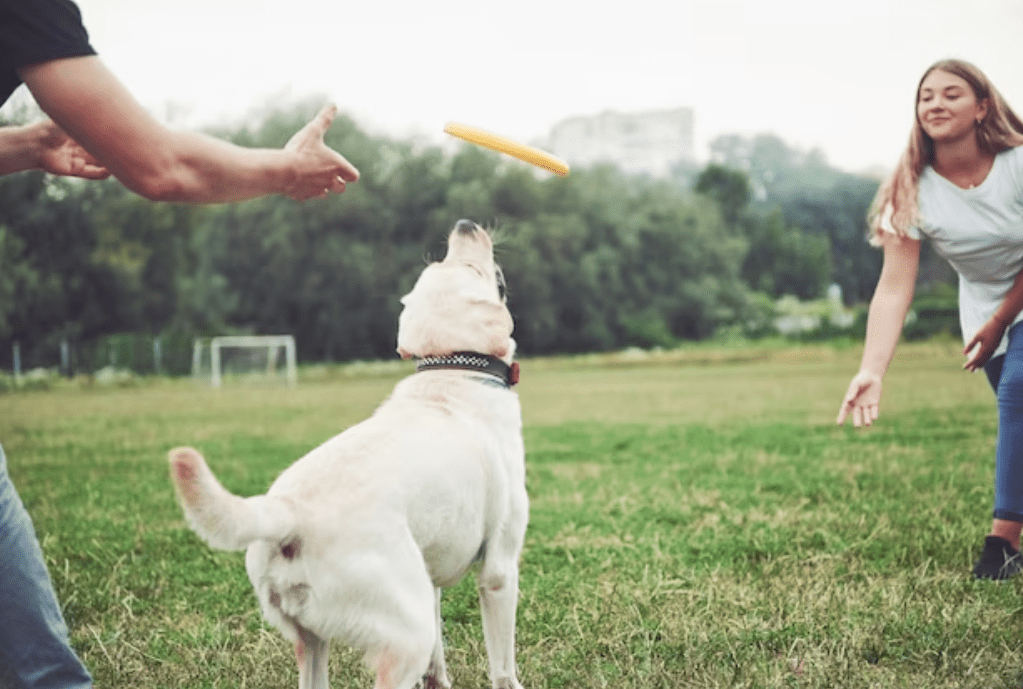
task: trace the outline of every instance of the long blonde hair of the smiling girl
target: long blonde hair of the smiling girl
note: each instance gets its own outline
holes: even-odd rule
[[[977,101],[987,99],[987,114],[977,124],[977,145],[984,153],[1000,153],[1009,148],[1023,145],[1023,122],[1013,112],[1012,108],[1002,98],[1002,94],[991,85],[984,73],[976,66],[961,59],[945,59],[935,62],[917,85],[917,98],[914,101],[914,125],[909,134],[909,143],[899,157],[898,165],[888,179],[878,189],[868,215],[870,239],[872,244],[879,244],[881,225],[883,221],[891,224],[889,231],[903,237],[908,228],[920,222],[920,174],[924,168],[934,162],[934,140],[924,132],[917,114],[917,104],[920,102],[920,90],[935,70],[941,70],[963,79],[973,90]]]

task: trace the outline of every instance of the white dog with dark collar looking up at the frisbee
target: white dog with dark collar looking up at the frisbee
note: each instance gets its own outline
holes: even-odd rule
[[[376,689],[450,687],[440,591],[474,564],[491,682],[521,689],[529,505],[503,286],[490,236],[459,221],[444,261],[401,301],[398,352],[420,360],[416,373],[266,495],[231,495],[196,451],[170,453],[191,527],[215,548],[248,548],[263,614],[296,644],[301,689],[326,689],[330,639],[365,652]]]

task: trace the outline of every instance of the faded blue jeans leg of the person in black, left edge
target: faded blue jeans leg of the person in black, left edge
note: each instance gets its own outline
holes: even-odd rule
[[[0,687],[91,687],[0,448]]]

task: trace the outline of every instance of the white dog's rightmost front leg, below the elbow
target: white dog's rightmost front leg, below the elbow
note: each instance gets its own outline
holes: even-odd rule
[[[480,572],[480,611],[483,614],[483,640],[490,662],[490,681],[494,689],[522,689],[516,678],[515,617],[519,601],[519,569],[513,564],[503,572],[484,565]]]

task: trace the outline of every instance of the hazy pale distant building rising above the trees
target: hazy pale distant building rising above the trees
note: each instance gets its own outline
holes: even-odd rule
[[[668,177],[680,163],[696,160],[693,108],[615,112],[564,120],[550,132],[550,150],[569,165],[611,163],[635,175]]]

